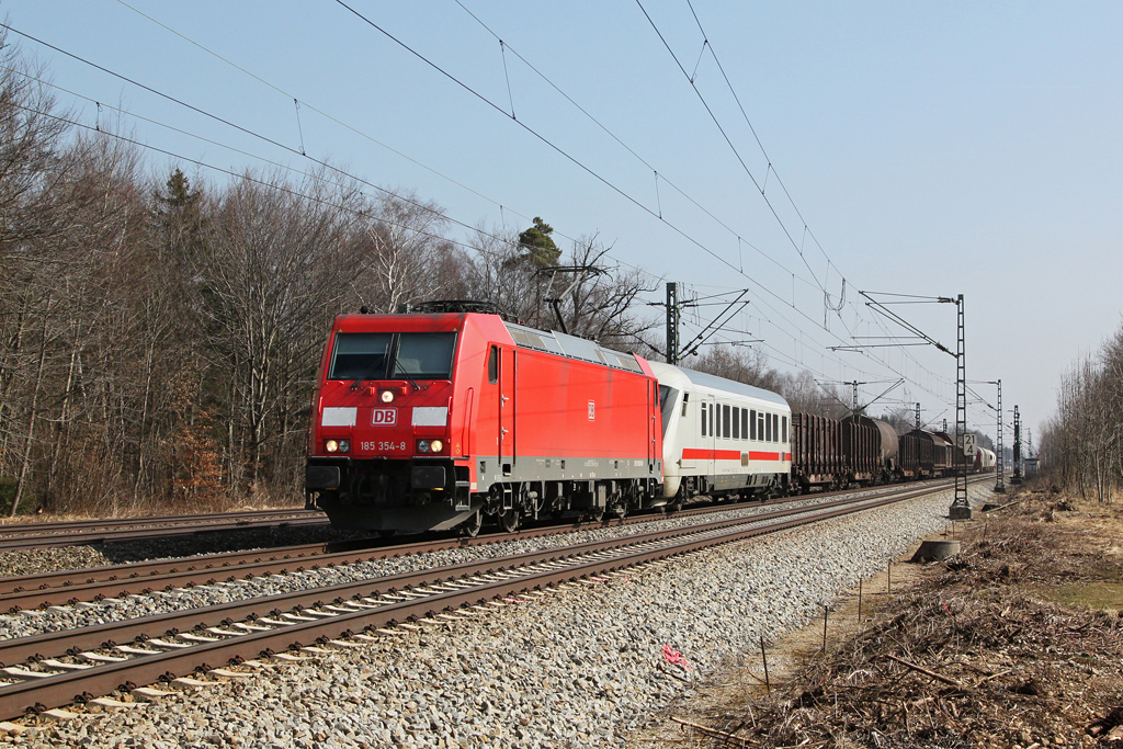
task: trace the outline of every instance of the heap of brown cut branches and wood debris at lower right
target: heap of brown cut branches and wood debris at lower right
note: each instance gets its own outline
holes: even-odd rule
[[[1046,594],[1111,563],[1040,514],[985,530],[792,683],[692,729],[733,747],[1123,749],[1123,618]]]

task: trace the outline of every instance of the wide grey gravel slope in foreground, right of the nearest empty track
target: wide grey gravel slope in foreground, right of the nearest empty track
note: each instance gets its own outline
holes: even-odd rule
[[[974,503],[989,491],[970,490]],[[82,714],[26,746],[604,747],[947,527],[951,491],[570,585],[480,620]],[[529,597],[529,596],[528,596]]]

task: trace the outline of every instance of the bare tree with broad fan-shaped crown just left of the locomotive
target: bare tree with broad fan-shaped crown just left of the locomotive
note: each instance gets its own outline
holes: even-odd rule
[[[272,458],[304,430],[323,331],[359,273],[356,195],[247,173],[216,205],[190,261],[206,348],[227,383],[218,400],[235,491],[282,479],[285,464]]]

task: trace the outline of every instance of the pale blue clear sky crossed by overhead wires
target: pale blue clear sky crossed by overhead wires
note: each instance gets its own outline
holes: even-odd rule
[[[458,241],[540,216],[563,248],[595,237],[606,263],[641,268],[652,302],[678,283],[697,303],[684,338],[747,290],[711,340],[865,383],[862,403],[904,378],[875,413],[920,402],[925,422],[953,423],[956,360],[886,346],[921,341],[860,292],[964,295],[968,422],[994,436],[984,383],[1001,378],[1007,445],[1013,407],[1038,431],[1061,374],[1123,321],[1123,3],[3,0],[0,13],[58,103],[145,144],[154,175],[298,180],[314,167],[303,153],[372,195],[435,201]],[[955,304],[889,309],[955,350]]]

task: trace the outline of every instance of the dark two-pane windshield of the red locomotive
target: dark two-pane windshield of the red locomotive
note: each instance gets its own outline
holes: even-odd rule
[[[449,380],[455,332],[340,332],[328,380]]]

